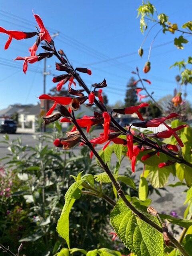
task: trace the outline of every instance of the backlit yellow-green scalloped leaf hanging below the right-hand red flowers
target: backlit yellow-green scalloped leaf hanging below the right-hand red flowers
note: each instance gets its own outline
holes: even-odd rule
[[[146,169],[148,168],[149,166],[146,166]],[[170,171],[166,168],[154,168],[154,166],[150,166],[149,169],[148,179],[152,186],[154,188],[163,188],[168,182]]]

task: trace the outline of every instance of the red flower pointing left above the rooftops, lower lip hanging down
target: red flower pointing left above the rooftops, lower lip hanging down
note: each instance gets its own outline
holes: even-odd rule
[[[72,98],[70,97],[61,97],[61,96],[49,96],[48,94],[42,94],[39,96],[40,100],[53,100],[54,104],[53,106],[48,110],[48,112],[46,113],[46,116],[49,116],[54,108],[56,107],[56,104],[61,104],[61,105],[68,105],[70,104],[70,102],[72,101]]]

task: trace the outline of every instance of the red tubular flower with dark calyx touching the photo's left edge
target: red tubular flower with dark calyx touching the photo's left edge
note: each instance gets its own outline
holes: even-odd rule
[[[0,32],[9,35],[9,38],[4,46],[5,50],[9,47],[9,45],[12,41],[12,38],[14,38],[16,40],[21,40],[21,39],[25,39],[25,38],[31,38],[37,34],[36,32],[22,32],[22,31],[6,30],[5,28],[2,28],[2,27],[0,27]]]

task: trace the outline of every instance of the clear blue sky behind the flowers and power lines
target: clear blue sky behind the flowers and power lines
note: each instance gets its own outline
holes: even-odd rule
[[[154,0],[158,13],[164,12],[172,23],[181,26],[192,20],[191,0]],[[140,0],[57,0],[57,1],[0,1],[0,26],[9,30],[25,32],[35,31],[36,24],[32,10],[42,18],[50,34],[60,32],[55,38],[56,48],[62,48],[74,67],[88,67],[92,76],[83,74],[84,81],[90,86],[106,78],[109,103],[117,100],[124,101],[126,83],[132,76],[131,71],[138,66],[143,78],[151,80],[149,91],[154,91],[154,98],[158,100],[166,94],[172,94],[175,84],[176,68],[169,69],[177,60],[191,54],[191,39],[184,50],[177,50],[174,46],[174,36],[160,33],[153,46],[164,46],[152,49],[151,70],[142,73],[148,52],[144,51],[141,59],[138,48],[144,38],[139,30],[139,19],[136,19],[136,9]],[[147,49],[154,35],[158,32],[155,26],[146,40],[143,48]],[[4,44],[8,36],[0,33],[0,109],[9,104],[30,104],[38,101],[37,97],[43,92],[43,61],[29,64],[26,75],[22,72],[22,61],[13,61],[16,56],[28,56],[28,47],[34,43],[34,38],[12,40],[8,50]],[[170,43],[168,43],[170,42]],[[166,44],[168,43],[168,44]],[[39,47],[38,53],[43,52]],[[114,60],[112,60],[114,58]],[[55,71],[53,57],[47,60],[47,70]],[[52,75],[46,78],[46,91],[52,88]],[[192,87],[188,86],[188,97],[191,101]]]

